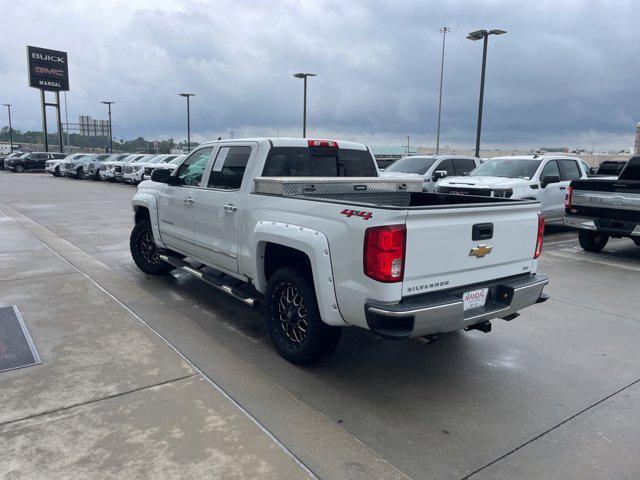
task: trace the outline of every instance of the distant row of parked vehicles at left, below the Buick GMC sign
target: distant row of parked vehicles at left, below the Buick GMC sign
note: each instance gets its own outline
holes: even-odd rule
[[[173,171],[184,158],[185,155],[178,154],[15,152],[4,159],[2,167],[18,173],[44,169],[55,177],[122,181],[137,185],[149,178],[155,169]]]

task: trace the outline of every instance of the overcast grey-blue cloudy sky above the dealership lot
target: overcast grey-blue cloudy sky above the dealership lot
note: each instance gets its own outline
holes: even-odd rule
[[[69,53],[69,121],[105,118],[116,138],[301,134],[433,145],[447,25],[441,143],[474,144],[480,28],[489,41],[486,145],[629,147],[640,121],[640,5],[633,1],[0,0],[0,103],[39,129],[26,45]],[[64,120],[63,120],[64,121]],[[51,112],[53,125],[53,111]],[[6,114],[0,125],[6,124]]]

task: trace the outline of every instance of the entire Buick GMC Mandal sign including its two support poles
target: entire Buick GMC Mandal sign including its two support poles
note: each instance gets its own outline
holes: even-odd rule
[[[58,148],[64,152],[62,142],[62,117],[60,115],[60,92],[69,90],[69,66],[67,52],[49,50],[47,48],[27,46],[27,65],[29,69],[29,86],[40,90],[42,108],[42,131],[44,148],[49,151],[47,135],[47,107],[55,107],[58,122]],[[55,103],[47,102],[45,92],[55,92]]]

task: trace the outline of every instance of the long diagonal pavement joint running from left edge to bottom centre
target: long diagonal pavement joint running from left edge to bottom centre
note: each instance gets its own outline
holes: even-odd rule
[[[157,330],[155,330],[150,324],[148,324],[146,321],[144,321],[144,319],[142,319],[142,317],[140,317],[137,313],[135,313],[133,310],[131,310],[127,305],[125,305],[123,302],[121,302],[118,298],[116,298],[113,294],[111,294],[109,291],[107,291],[104,287],[102,287],[98,282],[96,282],[93,278],[91,278],[87,273],[85,273],[83,270],[81,270],[80,268],[78,268],[75,264],[73,264],[70,260],[68,260],[67,258],[63,257],[60,253],[58,253],[56,250],[54,250],[53,248],[51,248],[47,243],[45,243],[42,239],[40,239],[35,233],[33,233],[28,227],[26,227],[25,225],[22,225],[22,223],[20,223],[19,221],[16,220],[16,218],[20,218],[20,217],[24,217],[26,218],[29,222],[34,223],[35,225],[37,225],[38,227],[40,227],[41,229],[45,230],[46,232],[49,232],[53,235],[55,235],[53,232],[51,232],[49,229],[47,229],[46,227],[40,225],[38,222],[30,219],[29,217],[26,217],[24,215],[22,215],[21,213],[13,210],[11,207],[9,207],[6,204],[1,204],[6,210],[9,210],[10,212],[7,213],[7,211],[3,211],[3,213],[7,216],[7,218],[9,218],[13,223],[15,223],[16,225],[21,226],[22,228],[24,228],[27,232],[29,232],[34,238],[36,238],[39,242],[41,242],[47,249],[49,249],[53,254],[55,254],[57,257],[61,258],[62,260],[64,260],[65,262],[67,262],[69,265],[71,265],[74,269],[76,269],[79,273],[81,273],[85,278],[87,278],[87,280],[89,280],[91,283],[93,283],[98,289],[100,289],[102,292],[104,292],[106,295],[108,295],[112,300],[114,300],[115,302],[117,302],[122,308],[124,308],[127,312],[129,312],[134,318],[136,318],[138,321],[142,322],[149,330],[151,330],[154,334],[156,334],[165,344],[167,344],[167,346],[169,346],[174,352],[176,352],[180,358],[182,358],[190,367],[192,367],[197,374],[199,374],[203,379],[205,379],[215,390],[217,390],[224,398],[226,398],[229,402],[231,402],[236,408],[238,408],[243,415],[245,415],[251,422],[253,422],[254,425],[256,425],[271,441],[273,441],[278,448],[280,448],[285,455],[287,455],[289,458],[291,458],[300,468],[302,468],[305,473],[307,473],[310,477],[319,480],[319,477],[311,471],[311,469],[309,467],[307,467],[304,463],[302,463],[302,461],[296,457],[293,452],[291,452],[280,440],[278,440],[269,430],[267,430],[267,428],[262,425],[262,423],[260,423],[260,421],[255,418],[253,415],[251,415],[244,407],[242,407],[242,405],[240,405],[235,399],[233,399],[226,391],[224,391],[222,389],[222,387],[220,387],[217,383],[215,383],[210,377],[208,377],[207,375],[205,375],[205,373],[198,368],[197,365],[195,365],[191,360],[189,360],[180,350],[178,350],[174,345],[172,345],[165,337],[163,337],[160,332],[158,332]],[[57,235],[56,235],[57,236]],[[63,240],[66,243],[66,240]],[[81,250],[80,250],[81,251]],[[86,252],[81,251],[82,253],[88,255]],[[93,258],[93,257],[92,257]],[[106,265],[105,265],[106,267]],[[108,268],[108,267],[106,267]],[[1,425],[0,425],[1,426]]]

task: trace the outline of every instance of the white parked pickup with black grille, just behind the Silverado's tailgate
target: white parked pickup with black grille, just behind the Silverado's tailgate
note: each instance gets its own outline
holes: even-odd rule
[[[436,191],[537,200],[545,220],[562,221],[567,187],[571,180],[580,178],[587,178],[587,172],[578,157],[496,157],[486,161],[466,177],[440,180]]]

